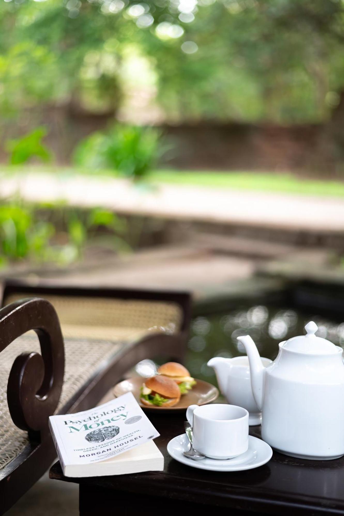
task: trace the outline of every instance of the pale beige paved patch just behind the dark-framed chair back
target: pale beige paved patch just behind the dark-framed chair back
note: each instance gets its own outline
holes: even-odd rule
[[[139,251],[84,270],[50,273],[45,281],[53,284],[116,286],[186,290],[194,299],[225,295],[231,282],[250,278],[253,260],[243,256],[217,254],[201,248],[166,246]]]

